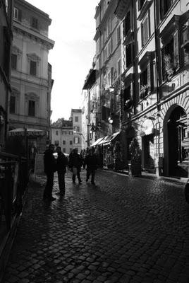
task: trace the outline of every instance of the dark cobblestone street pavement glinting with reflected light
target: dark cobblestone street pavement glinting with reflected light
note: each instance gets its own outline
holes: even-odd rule
[[[189,206],[183,185],[97,171],[96,186],[66,175],[51,203],[32,185],[5,283],[188,283]]]

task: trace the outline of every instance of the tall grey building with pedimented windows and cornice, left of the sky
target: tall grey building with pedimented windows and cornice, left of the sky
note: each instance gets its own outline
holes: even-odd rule
[[[29,139],[38,152],[44,151],[49,140],[53,81],[48,54],[54,47],[48,37],[50,24],[47,13],[25,0],[15,0],[9,129],[42,130],[44,134]]]

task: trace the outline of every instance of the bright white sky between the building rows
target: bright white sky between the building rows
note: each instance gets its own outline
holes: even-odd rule
[[[49,51],[54,86],[51,93],[52,122],[68,119],[71,108],[80,108],[82,88],[95,54],[95,7],[99,0],[26,0],[49,14]]]

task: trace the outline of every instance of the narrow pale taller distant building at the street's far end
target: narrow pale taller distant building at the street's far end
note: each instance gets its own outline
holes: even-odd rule
[[[73,123],[73,148],[78,148],[78,152],[82,149],[82,110],[81,109],[72,109],[71,110],[71,121]]]

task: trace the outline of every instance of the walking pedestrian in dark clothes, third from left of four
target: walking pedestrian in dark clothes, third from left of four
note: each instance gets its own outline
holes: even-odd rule
[[[72,175],[73,183],[75,183],[76,175],[78,177],[79,183],[82,182],[80,178],[80,168],[82,164],[83,164],[82,158],[80,154],[78,154],[78,149],[73,149],[73,151],[71,152],[69,156],[69,163],[68,163],[68,167],[71,168],[71,171],[73,173]]]

